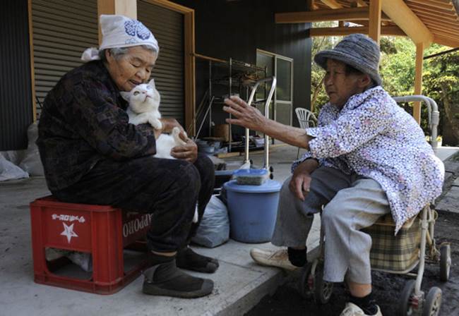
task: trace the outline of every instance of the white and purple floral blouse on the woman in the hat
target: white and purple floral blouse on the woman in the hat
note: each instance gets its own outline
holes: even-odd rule
[[[395,233],[428,202],[441,194],[444,166],[415,119],[382,87],[350,97],[342,109],[327,103],[309,151],[321,165],[373,178],[386,191],[395,221]]]

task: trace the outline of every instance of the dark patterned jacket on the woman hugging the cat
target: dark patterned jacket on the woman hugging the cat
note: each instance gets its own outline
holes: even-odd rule
[[[66,73],[44,99],[37,145],[49,190],[76,183],[102,159],[155,154],[148,124],[129,124],[127,104],[101,61]]]

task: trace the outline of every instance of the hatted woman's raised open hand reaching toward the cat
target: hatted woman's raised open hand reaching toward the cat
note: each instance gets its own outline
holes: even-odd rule
[[[267,122],[265,116],[258,109],[249,107],[249,104],[243,99],[235,96],[225,99],[225,104],[227,106],[223,107],[223,110],[233,116],[233,119],[226,119],[227,123],[244,126],[251,130],[263,131],[263,127],[266,126]]]

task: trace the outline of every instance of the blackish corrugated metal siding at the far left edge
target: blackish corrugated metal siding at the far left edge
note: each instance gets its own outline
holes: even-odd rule
[[[27,0],[6,0],[0,9],[0,150],[27,147],[32,88]]]

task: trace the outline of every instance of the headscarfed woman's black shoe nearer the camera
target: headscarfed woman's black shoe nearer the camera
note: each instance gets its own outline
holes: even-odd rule
[[[213,281],[191,277],[177,269],[175,260],[150,267],[143,272],[142,291],[157,296],[199,298],[213,291]]]

